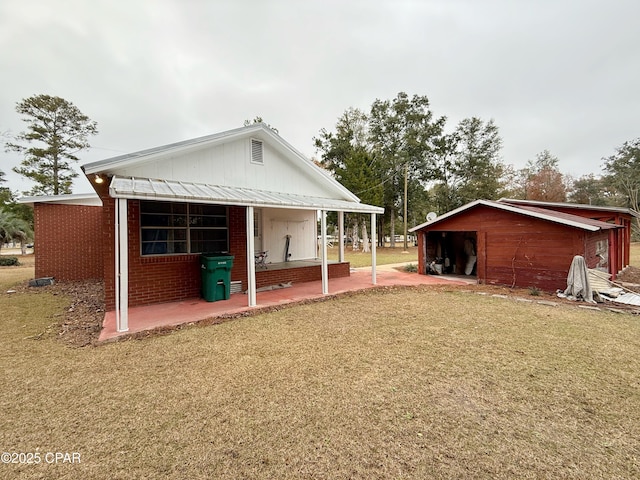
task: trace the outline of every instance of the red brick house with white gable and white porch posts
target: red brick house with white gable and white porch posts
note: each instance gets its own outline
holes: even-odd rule
[[[104,279],[105,306],[128,330],[128,308],[198,297],[200,254],[234,256],[231,282],[247,291],[349,275],[326,256],[326,214],[376,215],[264,124],[122,155],[82,167],[95,194],[29,197],[36,276]],[[320,233],[318,232],[320,221]],[[372,242],[375,283],[375,241]],[[256,268],[267,252],[267,268]]]

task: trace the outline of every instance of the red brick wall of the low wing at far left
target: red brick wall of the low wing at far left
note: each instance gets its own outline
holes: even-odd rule
[[[34,227],[36,278],[102,278],[102,207],[36,203]]]

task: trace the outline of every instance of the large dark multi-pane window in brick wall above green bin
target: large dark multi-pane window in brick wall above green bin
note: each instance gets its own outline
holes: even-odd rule
[[[227,208],[174,202],[140,202],[142,255],[226,252]]]

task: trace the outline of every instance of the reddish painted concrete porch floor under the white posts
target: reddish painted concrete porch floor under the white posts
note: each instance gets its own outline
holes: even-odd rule
[[[283,262],[286,264],[293,262]],[[273,268],[281,267],[272,264]],[[284,265],[286,268],[287,265]],[[377,283],[371,283],[371,268],[351,271],[348,277],[334,278],[330,282],[330,295],[354,292],[369,288],[411,285],[464,285],[469,281],[451,280],[442,276],[418,275],[397,270],[399,265],[382,265],[377,267]],[[475,279],[474,279],[475,280]],[[255,312],[278,305],[301,303],[313,299],[327,298],[322,292],[322,280],[293,283],[290,287],[274,288],[256,292],[256,306],[247,305],[244,293],[234,293],[229,300],[207,302],[201,298],[192,298],[179,302],[161,303],[129,308],[129,330],[116,330],[116,312],[105,315],[99,342],[154,329],[171,328],[177,325],[196,323],[206,319],[228,318],[244,312]]]

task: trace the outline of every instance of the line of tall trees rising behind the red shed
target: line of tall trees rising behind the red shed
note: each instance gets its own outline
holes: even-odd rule
[[[446,120],[434,115],[426,96],[400,92],[390,100],[376,99],[367,112],[348,108],[332,130],[322,129],[314,138],[321,166],[363,202],[385,208],[378,231],[389,235],[391,246],[399,222],[417,225],[428,212],[443,214],[477,199],[639,209],[640,138],[603,159],[603,175],[573,179],[548,150],[521,169],[504,163],[493,120],[465,118],[452,132],[445,131]],[[367,236],[361,215],[348,219],[356,236],[360,231]]]

